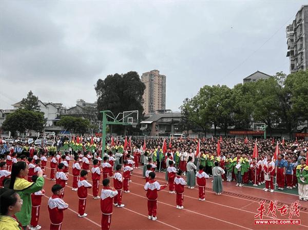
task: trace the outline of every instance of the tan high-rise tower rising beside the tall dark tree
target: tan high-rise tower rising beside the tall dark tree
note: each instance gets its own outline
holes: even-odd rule
[[[154,114],[166,109],[166,76],[159,70],[143,73],[141,81],[145,84],[143,109],[145,114]]]

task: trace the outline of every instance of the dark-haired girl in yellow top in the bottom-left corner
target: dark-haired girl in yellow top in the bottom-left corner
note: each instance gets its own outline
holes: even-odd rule
[[[0,203],[0,229],[21,230],[14,216],[22,209],[23,200],[20,195],[4,187],[0,189]]]

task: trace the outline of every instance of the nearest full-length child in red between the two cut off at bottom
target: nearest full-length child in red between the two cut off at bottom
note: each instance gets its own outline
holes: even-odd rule
[[[82,170],[80,172],[80,179],[78,181],[78,217],[86,217],[88,214],[85,213],[86,201],[88,196],[88,189],[91,189],[92,185],[87,181],[88,171]]]

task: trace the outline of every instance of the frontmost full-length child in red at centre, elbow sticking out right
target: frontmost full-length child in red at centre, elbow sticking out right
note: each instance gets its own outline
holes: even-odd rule
[[[157,220],[157,192],[163,190],[167,187],[167,184],[160,185],[159,182],[155,180],[155,173],[150,172],[149,178],[150,180],[145,183],[144,190],[147,191],[146,197],[148,198],[148,219],[149,220]]]

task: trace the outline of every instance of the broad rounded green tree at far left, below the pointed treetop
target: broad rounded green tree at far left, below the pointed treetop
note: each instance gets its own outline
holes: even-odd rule
[[[41,112],[29,111],[25,109],[18,109],[9,114],[2,124],[5,131],[10,131],[12,136],[15,136],[19,131],[24,133],[29,130],[40,132],[44,129],[45,119]]]

